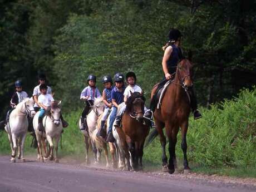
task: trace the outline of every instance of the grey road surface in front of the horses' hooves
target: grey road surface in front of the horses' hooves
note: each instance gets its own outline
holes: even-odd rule
[[[55,163],[10,163],[0,156],[0,192],[78,191],[256,191],[254,186],[210,183],[178,175],[122,172]]]

